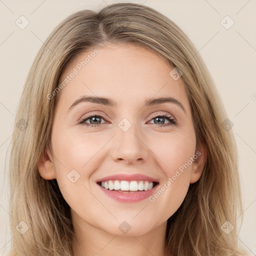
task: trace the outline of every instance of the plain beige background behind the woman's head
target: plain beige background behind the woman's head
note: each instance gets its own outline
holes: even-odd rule
[[[8,247],[11,240],[4,158],[16,106],[32,61],[48,34],[66,16],[84,8],[98,10],[112,2],[116,1],[0,0],[0,255],[5,255],[3,247]],[[251,255],[256,255],[256,1],[132,2],[153,7],[173,20],[206,62],[234,124],[244,210],[238,240],[250,249]],[[24,29],[15,23],[21,15],[29,21]],[[229,29],[221,24],[226,15],[234,21]],[[228,18],[223,22],[225,26],[231,24]]]

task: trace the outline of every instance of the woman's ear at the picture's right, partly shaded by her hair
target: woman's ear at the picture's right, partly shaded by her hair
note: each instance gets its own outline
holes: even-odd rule
[[[196,182],[203,171],[207,159],[207,149],[204,142],[198,143],[194,152],[194,161],[190,175],[190,184]]]

